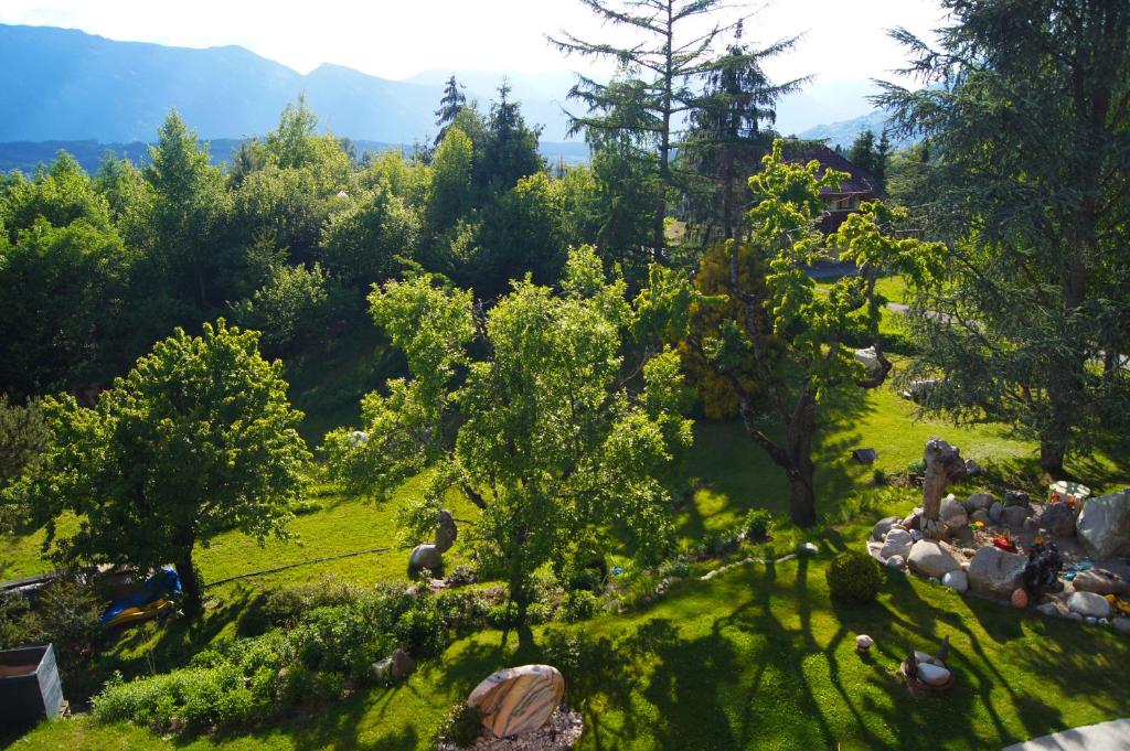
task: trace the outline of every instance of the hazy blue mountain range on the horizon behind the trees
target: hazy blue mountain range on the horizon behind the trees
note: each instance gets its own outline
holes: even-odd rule
[[[544,126],[547,156],[575,159],[580,145],[560,143],[568,140],[562,105],[572,73],[457,72],[468,98],[484,108],[507,77],[527,121]],[[0,24],[0,142],[153,141],[174,107],[201,139],[237,141],[275,128],[287,103],[304,94],[321,126],[338,136],[411,143],[435,132],[434,111],[450,75],[433,70],[390,80],[333,64],[299,73],[238,46],[171,47]],[[862,114],[869,86],[817,82],[780,103],[777,128],[808,137],[814,131],[807,124]],[[27,152],[23,147],[20,154]],[[214,148],[218,158],[227,154]]]

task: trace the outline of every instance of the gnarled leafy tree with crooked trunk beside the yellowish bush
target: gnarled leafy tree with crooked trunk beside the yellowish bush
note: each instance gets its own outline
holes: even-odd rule
[[[719,264],[729,268],[725,290],[713,300],[715,318],[727,318],[692,333],[688,344],[730,382],[746,433],[785,471],[793,522],[810,526],[816,523],[811,454],[819,404],[834,388],[877,387],[890,370],[879,335],[886,300],[875,282],[884,271],[924,282],[938,267],[941,247],[897,239],[893,233],[904,212],[879,201],[863,203],[826,241],[841,261],[859,267],[859,274],[820,294],[807,272],[829,257],[816,229],[820,189],[838,186],[846,175],[820,174],[816,160],[788,164],[782,148],[776,140],[762,172],[749,178],[755,204],[746,242],[723,243],[703,260],[703,273]],[[868,344],[875,353],[864,366],[855,347]],[[758,420],[762,394],[781,421],[783,440]]]

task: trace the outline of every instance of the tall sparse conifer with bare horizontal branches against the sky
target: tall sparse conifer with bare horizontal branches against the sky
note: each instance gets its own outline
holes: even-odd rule
[[[565,54],[597,58],[620,66],[623,79],[600,84],[579,76],[570,90],[586,113],[570,115],[572,132],[605,131],[647,134],[659,151],[659,180],[672,185],[671,156],[677,148],[673,129],[679,115],[695,110],[701,102],[696,84],[719,68],[713,59],[714,42],[738,27],[745,18],[715,24],[705,33],[696,25],[730,7],[725,0],[581,0],[601,21],[627,27],[642,35],[640,42],[616,45],[586,42],[563,32],[549,42]],[[736,66],[736,60],[729,64]],[[654,252],[664,245],[663,219],[667,194],[659,191],[652,216]]]

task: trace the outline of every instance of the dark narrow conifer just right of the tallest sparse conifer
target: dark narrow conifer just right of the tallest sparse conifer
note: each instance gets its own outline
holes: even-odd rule
[[[701,213],[712,220],[720,211],[723,237],[737,236],[741,217],[736,185],[755,171],[758,159],[772,143],[772,131],[762,123],[776,120],[776,101],[799,90],[807,79],[772,84],[762,63],[792,50],[798,37],[780,40],[764,50],[750,50],[741,42],[742,25],[734,29],[736,41],[704,75],[703,97],[690,112],[690,129],[681,150],[696,175],[705,177],[705,207]]]

